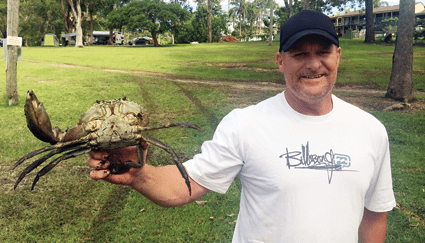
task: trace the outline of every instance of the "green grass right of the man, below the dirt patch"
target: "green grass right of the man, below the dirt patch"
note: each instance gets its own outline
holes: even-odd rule
[[[425,241],[425,111],[374,112],[388,131],[397,208],[389,214],[388,242]]]

